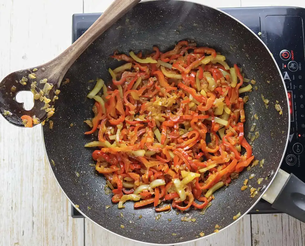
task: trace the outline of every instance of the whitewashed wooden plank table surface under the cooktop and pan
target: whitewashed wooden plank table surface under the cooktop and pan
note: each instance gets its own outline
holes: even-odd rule
[[[74,13],[103,12],[112,0],[0,0],[0,80],[51,60],[71,43]],[[304,0],[195,0],[214,7],[296,5]],[[87,219],[72,219],[44,152],[41,128],[0,117],[0,246],[147,245],[123,240]],[[305,223],[285,214],[246,215],[224,232],[188,246],[303,246]]]

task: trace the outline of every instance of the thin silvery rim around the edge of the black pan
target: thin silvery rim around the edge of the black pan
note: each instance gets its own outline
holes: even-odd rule
[[[170,0],[143,0],[143,1],[139,2],[138,4],[142,4],[142,3],[145,3],[145,2],[154,2],[154,1],[164,1],[164,2],[168,2],[168,1],[170,1]],[[171,1],[173,1],[173,0],[171,0]],[[223,14],[229,16],[229,17],[231,17],[233,20],[237,21],[239,24],[241,24],[243,27],[245,27],[248,31],[250,31],[250,32],[254,35],[254,37],[257,38],[257,39],[264,45],[265,49],[267,50],[267,52],[269,53],[269,55],[270,55],[271,58],[273,59],[275,65],[276,65],[276,67],[277,67],[277,69],[278,69],[279,75],[280,75],[280,77],[281,77],[281,79],[282,79],[282,83],[283,83],[283,86],[284,86],[284,89],[285,89],[285,93],[286,93],[286,103],[287,103],[287,106],[288,106],[288,108],[289,108],[289,99],[288,99],[288,94],[287,94],[288,92],[287,92],[287,89],[286,89],[286,86],[285,86],[285,81],[284,81],[284,79],[283,79],[282,73],[281,73],[281,71],[280,71],[280,69],[279,69],[279,67],[278,67],[278,64],[277,64],[276,60],[274,59],[274,56],[273,56],[272,53],[270,52],[269,48],[267,47],[267,45],[266,45],[259,37],[257,37],[257,35],[256,35],[249,27],[247,27],[247,26],[246,26],[245,24],[243,24],[241,21],[237,20],[235,17],[229,15],[228,13],[225,13],[224,11],[222,11],[222,10],[220,10],[220,9],[217,9],[217,8],[215,8],[215,7],[211,7],[210,5],[201,4],[201,3],[195,2],[194,0],[174,0],[174,1],[177,1],[177,2],[178,2],[178,1],[179,1],[179,2],[191,2],[191,3],[194,3],[194,4],[206,6],[206,7],[208,7],[208,8],[217,10],[217,11],[219,11],[219,12],[221,12],[221,13],[223,13]],[[219,232],[221,232],[222,230],[228,228],[228,226],[233,225],[234,223],[236,223],[237,221],[239,221],[240,219],[242,219],[246,214],[248,214],[249,211],[258,203],[258,201],[259,201],[260,199],[262,199],[262,197],[263,197],[263,195],[265,194],[266,190],[267,190],[267,189],[269,188],[269,186],[273,183],[273,181],[274,181],[274,179],[275,179],[275,176],[277,175],[278,170],[280,169],[280,167],[281,167],[281,165],[282,165],[282,161],[284,160],[285,153],[286,153],[287,146],[288,146],[288,142],[289,142],[289,133],[290,133],[290,124],[291,124],[291,123],[290,123],[290,114],[288,114],[288,120],[289,120],[289,123],[288,123],[288,131],[287,131],[287,136],[286,136],[285,149],[284,149],[284,151],[283,151],[281,161],[280,161],[280,163],[278,164],[278,168],[277,168],[276,171],[274,172],[274,175],[273,175],[273,177],[272,177],[270,183],[266,186],[266,188],[264,189],[264,191],[262,192],[262,194],[257,198],[257,200],[256,200],[255,202],[253,202],[253,204],[251,205],[251,207],[250,207],[245,213],[243,213],[241,216],[239,216],[239,218],[236,219],[235,221],[231,222],[230,224],[228,224],[228,225],[225,226],[224,228],[220,229]],[[45,146],[45,139],[44,139],[44,133],[43,133],[43,126],[42,126],[42,125],[41,125],[41,133],[42,133],[42,137],[43,137],[42,140],[43,140],[43,144],[44,144],[45,154],[48,156],[47,150],[46,150],[46,146]],[[49,161],[49,158],[47,158],[47,160],[48,160],[48,162],[49,162],[50,168],[52,169],[52,166],[51,166],[51,163],[50,163],[50,161]],[[66,192],[63,190],[63,188],[62,188],[61,185],[59,184],[59,181],[58,181],[58,179],[56,178],[55,173],[53,172],[53,170],[52,170],[52,173],[53,173],[53,175],[54,175],[54,178],[56,179],[56,183],[59,185],[59,187],[60,187],[60,189],[62,190],[62,192],[65,194],[65,196],[66,196],[67,199],[70,201],[70,203],[75,207],[75,204],[70,200],[70,198],[68,197],[68,195],[66,194]],[[75,208],[76,208],[76,207],[75,207]],[[134,242],[140,242],[140,243],[143,243],[143,244],[150,244],[150,245],[164,245],[164,246],[173,245],[173,244],[149,243],[149,242],[138,241],[138,240],[136,240],[136,239],[131,239],[131,238],[129,238],[129,237],[122,236],[122,235],[120,235],[120,234],[117,234],[117,233],[115,233],[115,232],[113,232],[113,231],[111,231],[111,230],[109,230],[109,229],[106,229],[106,228],[104,228],[103,226],[99,225],[97,222],[93,221],[91,218],[89,218],[87,215],[85,215],[79,208],[76,208],[76,209],[77,209],[78,212],[80,212],[80,213],[84,216],[85,219],[89,219],[91,222],[93,222],[93,223],[95,223],[96,225],[100,226],[102,229],[107,230],[108,232],[111,232],[111,233],[113,233],[114,235],[120,236],[120,237],[122,237],[122,238],[124,238],[124,239],[128,239],[128,240],[131,240],[131,241],[134,241]],[[192,243],[192,242],[201,240],[201,239],[203,239],[203,238],[207,238],[207,237],[209,237],[209,236],[211,236],[211,235],[214,235],[214,234],[215,234],[215,233],[211,233],[211,234],[208,234],[208,235],[203,236],[203,237],[195,238],[195,239],[193,239],[193,240],[184,241],[184,242],[178,242],[178,244]]]

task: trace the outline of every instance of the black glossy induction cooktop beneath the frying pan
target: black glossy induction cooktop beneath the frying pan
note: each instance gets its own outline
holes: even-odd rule
[[[281,168],[294,173],[305,182],[305,61],[304,26],[305,9],[296,7],[224,8],[248,26],[268,46],[282,72],[289,97],[291,129],[289,144]],[[101,13],[83,13],[72,16],[72,42],[77,40]],[[260,54],[257,54],[260,55]],[[250,211],[278,213],[271,204],[260,200]],[[73,207],[72,217],[82,215]]]

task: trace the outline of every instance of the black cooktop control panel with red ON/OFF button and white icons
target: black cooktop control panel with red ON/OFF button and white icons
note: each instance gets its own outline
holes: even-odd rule
[[[264,32],[262,32],[264,34]],[[305,181],[305,73],[303,19],[300,16],[265,17],[267,44],[282,72],[289,98],[291,128],[282,169]]]

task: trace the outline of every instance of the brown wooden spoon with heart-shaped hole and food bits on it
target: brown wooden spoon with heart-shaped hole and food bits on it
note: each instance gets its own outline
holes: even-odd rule
[[[140,0],[115,0],[92,26],[69,48],[53,60],[37,67],[32,67],[7,75],[0,83],[0,113],[10,123],[24,126],[22,115],[34,117],[39,123],[52,116],[56,91],[70,66],[85,49],[120,17],[133,8]],[[25,110],[23,103],[18,103],[15,96],[19,91],[34,93],[34,107]]]

